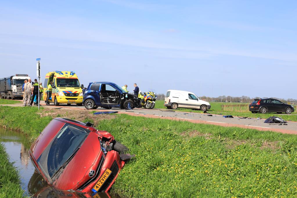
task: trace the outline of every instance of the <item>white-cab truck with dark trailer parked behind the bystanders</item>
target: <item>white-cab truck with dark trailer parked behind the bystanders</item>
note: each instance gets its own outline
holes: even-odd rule
[[[28,74],[15,74],[0,79],[0,96],[2,99],[23,99],[24,80],[30,79]]]

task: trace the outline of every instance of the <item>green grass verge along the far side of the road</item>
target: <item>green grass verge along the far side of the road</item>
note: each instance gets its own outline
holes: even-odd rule
[[[269,118],[270,116],[277,116],[281,117],[284,120],[287,121],[297,121],[297,112],[294,112],[290,115],[287,114],[276,114],[276,113],[267,113],[267,114],[252,114],[251,112],[230,112],[230,111],[222,111],[221,105],[222,104],[229,104],[229,103],[220,103],[220,102],[211,102],[211,109],[207,111],[210,114],[222,114],[222,115],[232,115],[232,116],[239,116],[239,117],[250,117],[250,118]],[[232,103],[231,103],[232,104]],[[233,103],[233,104],[240,104],[240,103]],[[242,103],[241,103],[242,104]],[[163,100],[156,100],[156,106],[155,108],[166,108],[164,106]],[[193,109],[186,109],[186,108],[178,108],[174,111],[186,111],[186,112],[194,112],[194,113],[202,113],[203,111],[200,110],[193,110]],[[296,109],[295,109],[296,111]]]

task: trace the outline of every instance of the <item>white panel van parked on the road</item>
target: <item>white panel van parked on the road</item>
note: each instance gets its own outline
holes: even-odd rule
[[[206,111],[210,104],[200,100],[194,93],[188,91],[168,90],[165,95],[164,106],[170,109],[191,108]]]

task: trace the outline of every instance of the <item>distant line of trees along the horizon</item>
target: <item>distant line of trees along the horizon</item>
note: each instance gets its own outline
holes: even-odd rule
[[[274,97],[255,97],[255,98],[274,98]],[[251,103],[255,98],[250,98],[249,96],[241,96],[241,97],[233,97],[233,96],[219,96],[216,98],[211,98],[211,97],[207,97],[207,96],[202,96],[200,99],[201,100],[205,100],[208,102],[233,102],[233,103]],[[157,94],[157,99],[158,100],[164,100],[165,99],[165,95],[164,94]],[[288,98],[287,100],[285,100],[284,98],[274,98],[277,100],[282,101],[283,103],[297,103],[297,99],[293,99],[293,98]]]

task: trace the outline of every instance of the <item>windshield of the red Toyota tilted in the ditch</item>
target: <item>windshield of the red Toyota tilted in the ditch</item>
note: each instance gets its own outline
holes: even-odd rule
[[[52,178],[60,168],[64,168],[72,159],[89,130],[72,124],[65,124],[37,159],[42,172]]]

